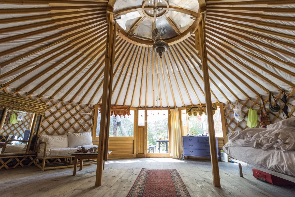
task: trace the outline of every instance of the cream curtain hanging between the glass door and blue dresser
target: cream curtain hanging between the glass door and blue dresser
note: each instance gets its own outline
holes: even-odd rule
[[[179,121],[178,108],[171,109],[171,153],[173,159],[177,159],[181,156],[181,129]]]

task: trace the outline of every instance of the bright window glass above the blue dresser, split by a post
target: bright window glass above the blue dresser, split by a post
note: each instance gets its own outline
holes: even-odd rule
[[[215,136],[223,137],[219,107],[217,107],[217,110],[215,111],[215,114],[213,115],[213,119],[214,119]],[[203,113],[203,115],[198,114],[197,116],[194,116],[194,115],[189,116],[188,127],[189,127],[188,131],[190,134],[194,133],[194,135],[198,135],[198,134],[208,135],[207,115]],[[183,135],[186,135],[186,133],[183,133]]]

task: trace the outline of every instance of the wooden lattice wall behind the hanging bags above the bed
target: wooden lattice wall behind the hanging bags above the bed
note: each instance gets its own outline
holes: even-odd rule
[[[287,95],[287,100],[288,100],[287,105],[289,106],[288,112],[289,112],[290,118],[295,118],[294,92],[295,92],[295,89],[293,89],[290,92],[285,93]],[[275,122],[278,122],[278,121],[281,121],[284,119],[283,111],[282,111],[284,103],[281,101],[281,98],[282,98],[282,92],[279,92],[279,94],[275,95],[275,99],[276,99],[277,103],[281,106],[281,110],[277,113],[273,113],[269,110],[268,97],[263,97],[264,103],[266,105],[266,109],[268,110],[268,113],[270,116],[271,123],[275,123]],[[272,104],[274,105],[275,101],[273,100],[273,98],[271,101],[272,101]],[[260,103],[261,103],[261,106],[260,106]],[[250,98],[248,100],[240,101],[240,105],[242,107],[242,112],[244,114],[244,119],[241,122],[235,120],[235,118],[233,116],[233,114],[234,114],[233,108],[235,107],[235,102],[232,102],[232,103],[227,102],[227,104],[225,105],[225,113],[226,113],[226,119],[227,119],[226,126],[227,126],[229,132],[230,131],[237,131],[237,130],[244,130],[244,129],[248,128],[248,126],[246,124],[247,124],[247,120],[248,120],[248,110],[250,107],[253,110],[256,110],[258,112],[258,118],[259,118],[260,110],[263,108],[262,101],[259,99],[259,96],[257,98]],[[286,115],[285,115],[285,117],[286,117]],[[256,128],[259,128],[260,127],[259,121],[257,121],[257,123],[258,124],[257,124]]]

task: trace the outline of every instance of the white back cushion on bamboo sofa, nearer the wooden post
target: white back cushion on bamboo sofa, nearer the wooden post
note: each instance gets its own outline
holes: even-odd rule
[[[86,133],[67,133],[68,135],[68,145],[71,148],[83,145],[92,145],[91,132]]]

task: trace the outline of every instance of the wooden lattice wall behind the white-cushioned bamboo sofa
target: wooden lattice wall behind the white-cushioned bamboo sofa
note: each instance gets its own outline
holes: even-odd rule
[[[1,88],[1,90],[6,94],[36,100],[49,105],[42,121],[41,135],[64,135],[67,132],[81,133],[91,131],[93,124],[92,105],[35,97],[30,94],[21,95],[19,92],[14,92],[4,87]],[[26,124],[27,123],[25,123],[25,125]],[[12,131],[15,128],[10,127],[10,129]]]

